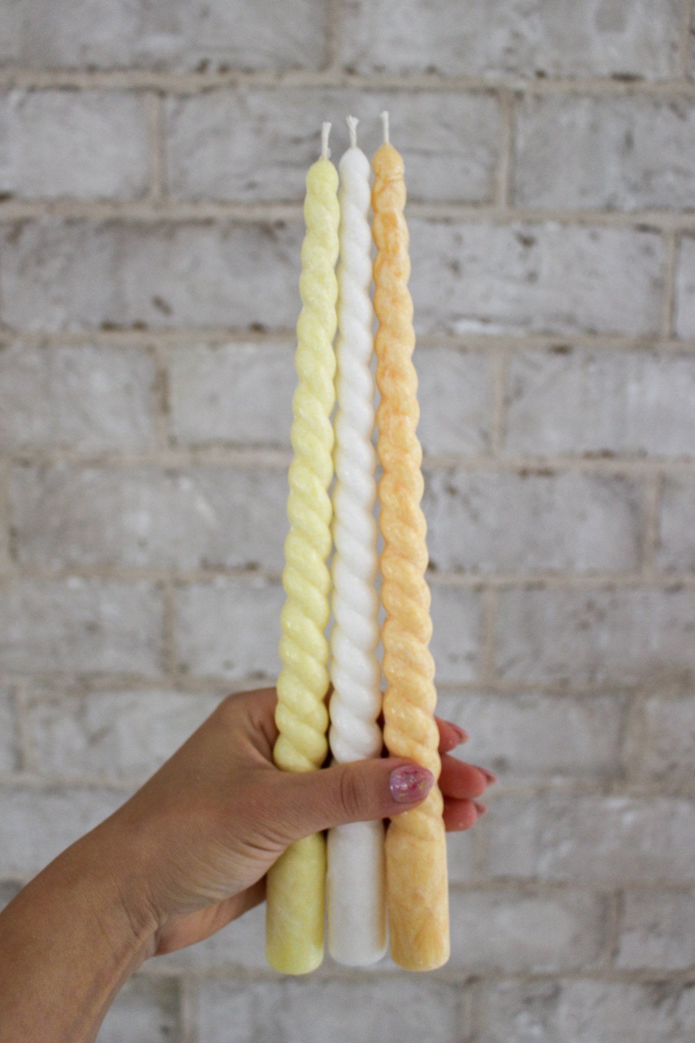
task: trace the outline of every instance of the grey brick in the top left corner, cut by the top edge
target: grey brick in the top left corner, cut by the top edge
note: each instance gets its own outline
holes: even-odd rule
[[[317,69],[326,59],[327,4],[319,0],[4,0],[0,63],[34,69]]]

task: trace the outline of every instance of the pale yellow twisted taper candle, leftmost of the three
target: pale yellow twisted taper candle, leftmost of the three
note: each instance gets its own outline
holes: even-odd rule
[[[306,174],[297,323],[297,390],[293,398],[290,533],[284,544],[280,659],[275,721],[279,737],[273,756],[278,768],[308,772],[327,752],[328,623],[331,548],[333,386],[338,283],[338,172],[328,155],[323,125],[321,159]],[[282,854],[268,873],[266,955],[286,974],[305,974],[323,960],[326,846],[322,833],[307,836]]]

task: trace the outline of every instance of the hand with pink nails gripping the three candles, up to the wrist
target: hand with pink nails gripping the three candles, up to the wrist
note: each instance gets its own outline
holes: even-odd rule
[[[99,827],[117,838],[113,848],[123,845],[140,859],[136,891],[156,923],[152,954],[193,945],[260,902],[267,870],[294,841],[345,822],[397,815],[423,800],[432,784],[429,772],[417,766],[424,778],[418,776],[415,787],[401,784],[398,793],[392,773],[405,768],[412,778],[415,767],[400,757],[306,774],[279,771],[272,759],[276,701],[274,688],[229,696]],[[474,798],[495,776],[450,756],[466,733],[445,721],[438,725],[445,825],[467,829],[485,811]],[[396,778],[402,777],[401,771]]]

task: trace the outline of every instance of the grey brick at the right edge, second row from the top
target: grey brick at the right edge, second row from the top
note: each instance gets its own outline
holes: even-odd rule
[[[695,204],[690,99],[527,96],[517,111],[514,200],[569,210]]]

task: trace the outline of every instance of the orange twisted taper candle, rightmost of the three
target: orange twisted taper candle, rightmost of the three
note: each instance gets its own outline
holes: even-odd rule
[[[372,231],[374,311],[379,325],[376,383],[381,392],[376,422],[377,453],[383,467],[379,482],[383,737],[389,752],[412,757],[439,778],[439,733],[433,720],[437,692],[431,636],[426,524],[420,508],[422,450],[416,434],[420,415],[413,300],[407,289],[411,262],[403,207],[403,161],[384,143],[374,155]],[[419,807],[396,816],[387,831],[387,903],[391,956],[406,970],[441,967],[449,959],[449,902],[443,800],[433,786]]]

